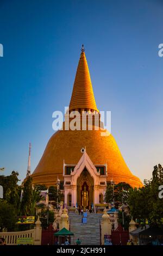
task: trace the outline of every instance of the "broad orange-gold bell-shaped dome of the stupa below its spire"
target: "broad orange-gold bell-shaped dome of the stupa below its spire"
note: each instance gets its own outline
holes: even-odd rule
[[[117,143],[112,135],[101,136],[101,131],[57,131],[49,139],[43,156],[32,177],[34,183],[54,185],[54,181],[63,180],[63,164],[77,164],[85,147],[93,164],[107,164],[108,178],[118,182],[127,182],[133,187],[142,186],[124,162]]]

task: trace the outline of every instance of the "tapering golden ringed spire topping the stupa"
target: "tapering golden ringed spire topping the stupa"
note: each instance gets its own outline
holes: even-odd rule
[[[69,110],[72,111],[73,109],[93,109],[95,111],[98,111],[95,97],[93,94],[89,67],[87,65],[85,57],[84,45],[82,45],[81,51],[82,52],[80,54],[76,78],[73,85]]]

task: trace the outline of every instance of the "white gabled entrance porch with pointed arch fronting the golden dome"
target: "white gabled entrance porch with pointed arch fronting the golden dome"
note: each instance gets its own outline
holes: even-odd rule
[[[107,165],[94,165],[86,150],[77,165],[64,162],[64,198],[67,206],[91,208],[103,203],[106,191]]]

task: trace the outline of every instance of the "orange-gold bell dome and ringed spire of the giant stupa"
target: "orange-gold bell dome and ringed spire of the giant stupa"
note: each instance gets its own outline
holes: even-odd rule
[[[69,111],[78,110],[99,113],[87,65],[84,48],[80,54],[74,81]],[[34,184],[56,184],[64,180],[64,163],[76,165],[85,148],[93,164],[105,164],[106,181],[127,182],[133,187],[141,187],[142,182],[134,176],[123,160],[120,149],[112,135],[101,136],[100,130],[59,130],[49,139],[39,164],[31,175]]]

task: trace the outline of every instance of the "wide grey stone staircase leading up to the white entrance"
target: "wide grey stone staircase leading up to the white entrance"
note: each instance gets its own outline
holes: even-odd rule
[[[82,215],[78,212],[68,212],[70,230],[74,233],[74,243],[79,238],[82,245],[100,245],[99,219],[102,214],[87,213],[87,223],[82,223]],[[73,238],[71,240],[73,244]]]

